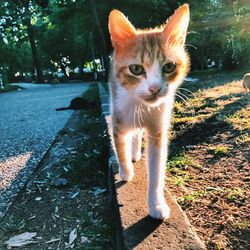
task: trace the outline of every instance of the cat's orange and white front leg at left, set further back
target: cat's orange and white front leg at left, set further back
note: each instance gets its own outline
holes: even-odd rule
[[[119,163],[119,175],[123,181],[131,181],[134,177],[134,167],[131,156],[132,135],[114,130],[113,139]]]

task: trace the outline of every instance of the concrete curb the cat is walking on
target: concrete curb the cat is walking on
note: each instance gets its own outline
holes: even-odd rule
[[[102,114],[109,128],[109,95],[100,83],[99,94]],[[132,182],[119,181],[117,169],[117,160],[110,146],[109,187],[115,211],[117,249],[206,249],[168,190],[165,190],[165,197],[171,209],[170,219],[162,222],[148,216],[145,159],[135,164],[135,178]]]

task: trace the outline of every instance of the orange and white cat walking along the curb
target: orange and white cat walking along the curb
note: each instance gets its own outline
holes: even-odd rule
[[[109,16],[114,56],[110,75],[112,133],[123,181],[134,176],[133,161],[147,141],[148,211],[169,218],[164,198],[168,128],[175,91],[189,70],[185,39],[189,7],[184,4],[165,25],[138,30],[118,10]]]

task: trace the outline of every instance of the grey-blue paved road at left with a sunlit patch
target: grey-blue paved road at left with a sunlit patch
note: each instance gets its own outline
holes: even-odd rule
[[[73,112],[55,108],[68,106],[89,84],[21,86],[0,94],[0,218]]]

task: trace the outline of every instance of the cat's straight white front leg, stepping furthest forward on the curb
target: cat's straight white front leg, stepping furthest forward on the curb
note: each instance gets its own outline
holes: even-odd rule
[[[156,219],[168,219],[170,209],[165,201],[165,172],[167,158],[167,137],[165,133],[148,131],[148,209]]]

